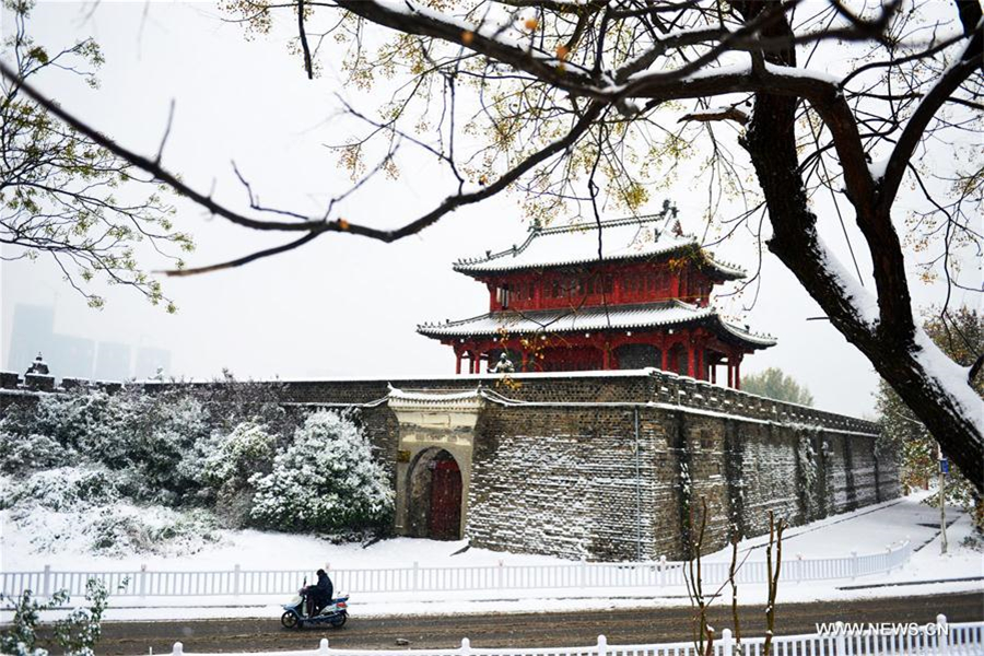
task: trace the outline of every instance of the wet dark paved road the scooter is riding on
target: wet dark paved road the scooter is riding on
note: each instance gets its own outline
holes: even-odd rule
[[[898,597],[858,601],[786,604],[777,612],[778,632],[812,633],[815,622],[935,621],[945,612],[951,622],[984,620],[984,595],[963,593],[927,597]],[[764,609],[742,607],[742,631],[761,635]],[[730,624],[730,610],[715,608],[712,625]],[[675,642],[690,639],[689,608],[611,610],[583,613],[524,613],[484,617],[351,618],[340,630],[285,631],[278,619],[197,620],[173,622],[107,622],[99,654],[139,656],[153,648],[169,653],[181,641],[189,653],[257,652],[261,649],[312,649],[324,636],[333,647],[395,648],[397,640],[410,648],[452,648],[469,637],[475,647],[574,646],[594,644],[599,633],[609,644]]]

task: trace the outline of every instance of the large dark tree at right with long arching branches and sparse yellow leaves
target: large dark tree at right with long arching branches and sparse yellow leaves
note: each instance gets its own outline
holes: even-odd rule
[[[326,56],[311,44],[330,37],[343,52],[347,91],[373,89],[373,107],[345,103],[365,131],[335,144],[353,185],[327,190],[323,213],[279,208],[271,218],[253,202],[249,185],[248,206],[221,203],[36,97],[211,213],[294,233],[286,244],[195,270],[242,266],[329,233],[393,242],[502,192],[522,195],[527,218],[539,222],[590,213],[594,204],[643,212],[687,163],[706,186],[708,234],[712,225],[727,235],[745,226],[765,243],[984,488],[984,420],[970,371],[917,329],[910,292],[913,268],[981,291],[979,269],[954,263],[980,257],[984,239],[973,220],[984,209],[984,164],[974,148],[984,96],[977,2],[222,4],[255,32],[269,31],[280,14],[290,19],[305,75]],[[34,93],[28,85],[24,92]],[[358,211],[342,216],[341,199],[358,199],[366,180],[400,174],[401,149],[436,156],[453,180],[429,189],[436,194],[431,209],[400,216],[391,230]],[[903,208],[898,199],[907,186],[922,198]],[[821,198],[860,233],[860,244],[848,242],[852,262],[840,263],[832,237],[821,234]],[[728,200],[746,211],[725,211]],[[769,216],[764,233],[750,220],[760,207]]]

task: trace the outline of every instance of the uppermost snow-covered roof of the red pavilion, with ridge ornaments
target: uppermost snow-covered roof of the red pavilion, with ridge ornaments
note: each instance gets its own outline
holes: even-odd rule
[[[654,257],[700,247],[693,235],[673,234],[666,224],[676,219],[676,208],[667,206],[659,214],[583,222],[551,227],[534,227],[523,244],[501,253],[485,251],[478,258],[460,259],[455,271],[468,274],[565,267],[601,260]],[[743,269],[721,262],[704,251],[707,266],[727,279],[745,278]]]

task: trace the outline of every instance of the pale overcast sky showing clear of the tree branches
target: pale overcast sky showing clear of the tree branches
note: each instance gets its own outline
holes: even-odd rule
[[[98,91],[70,77],[37,80],[67,108],[127,147],[152,154],[174,101],[165,165],[199,189],[214,186],[219,198],[236,207],[244,207],[245,195],[231,161],[268,204],[317,212],[327,196],[344,188],[347,172],[338,168],[324,144],[343,141],[353,124],[338,118],[333,94],[341,92],[365,110],[372,110],[374,97],[342,87],[330,52],[321,57],[323,77],[312,82],[288,52],[288,31],[248,42],[239,26],[221,21],[213,3],[104,1],[92,15],[91,9],[39,3],[30,24],[35,38],[49,48],[86,35],[103,47],[106,65]],[[10,28],[10,16],[4,15],[4,35]],[[413,166],[405,166],[398,180],[359,196],[344,211],[353,221],[395,225],[433,207],[450,190],[442,183],[447,180],[433,162],[420,156]],[[681,181],[670,197],[681,208],[684,230],[696,232],[702,196],[689,184]],[[663,199],[653,199],[653,211]],[[189,258],[192,266],[282,239],[209,219],[197,207],[172,200],[181,229],[198,244]],[[237,270],[168,279],[165,292],[179,307],[174,316],[121,289],[106,291],[106,307],[93,311],[49,260],[7,262],[0,269],[3,367],[11,366],[13,308],[35,304],[55,307],[56,332],[169,350],[169,375],[211,377],[223,367],[239,377],[448,375],[454,373],[450,349],[418,336],[414,328],[425,320],[488,309],[484,288],[455,273],[450,265],[461,256],[522,242],[527,226],[518,201],[501,197],[460,210],[393,245],[330,235]],[[830,208],[820,203],[818,210],[824,225],[833,229]],[[829,243],[846,260],[843,236],[833,236]],[[716,250],[724,259],[754,267],[754,248],[747,239]],[[142,261],[148,268],[164,263],[151,256]],[[866,272],[870,269],[864,260],[862,266]],[[917,306],[941,301],[939,288],[915,281],[913,295]],[[728,313],[740,313],[740,303],[724,305]],[[765,253],[758,303],[740,320],[774,335],[778,344],[747,358],[742,372],[778,366],[812,391],[818,407],[871,414],[877,376],[827,321],[807,320],[821,314],[792,274]],[[57,362],[49,364],[56,376],[62,375]]]

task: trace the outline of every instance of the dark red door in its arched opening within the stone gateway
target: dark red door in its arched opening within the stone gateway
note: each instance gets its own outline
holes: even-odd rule
[[[461,469],[449,452],[432,447],[418,454],[407,485],[407,529],[411,537],[461,538]]]

